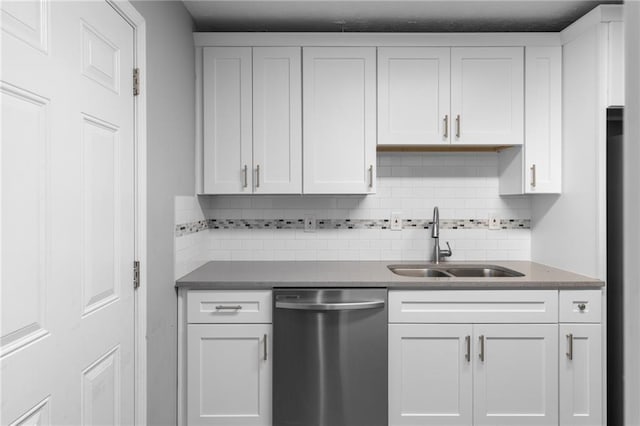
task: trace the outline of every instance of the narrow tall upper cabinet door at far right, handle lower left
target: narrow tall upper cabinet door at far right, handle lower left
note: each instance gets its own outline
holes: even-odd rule
[[[526,48],[524,192],[562,190],[562,48]]]

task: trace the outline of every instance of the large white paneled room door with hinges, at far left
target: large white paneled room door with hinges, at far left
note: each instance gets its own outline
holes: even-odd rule
[[[133,424],[133,28],[1,7],[0,423]]]

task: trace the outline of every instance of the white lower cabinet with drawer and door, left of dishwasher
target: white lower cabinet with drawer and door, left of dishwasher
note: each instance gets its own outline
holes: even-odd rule
[[[271,426],[271,291],[190,290],[184,296],[181,424]]]

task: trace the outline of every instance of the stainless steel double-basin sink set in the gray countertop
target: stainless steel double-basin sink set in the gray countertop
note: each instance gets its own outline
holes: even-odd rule
[[[396,275],[420,278],[511,278],[524,277],[513,269],[497,265],[430,263],[421,265],[388,265]]]

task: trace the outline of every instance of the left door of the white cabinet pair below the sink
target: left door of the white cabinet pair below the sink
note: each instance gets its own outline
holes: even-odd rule
[[[389,325],[389,424],[471,425],[471,325]]]

